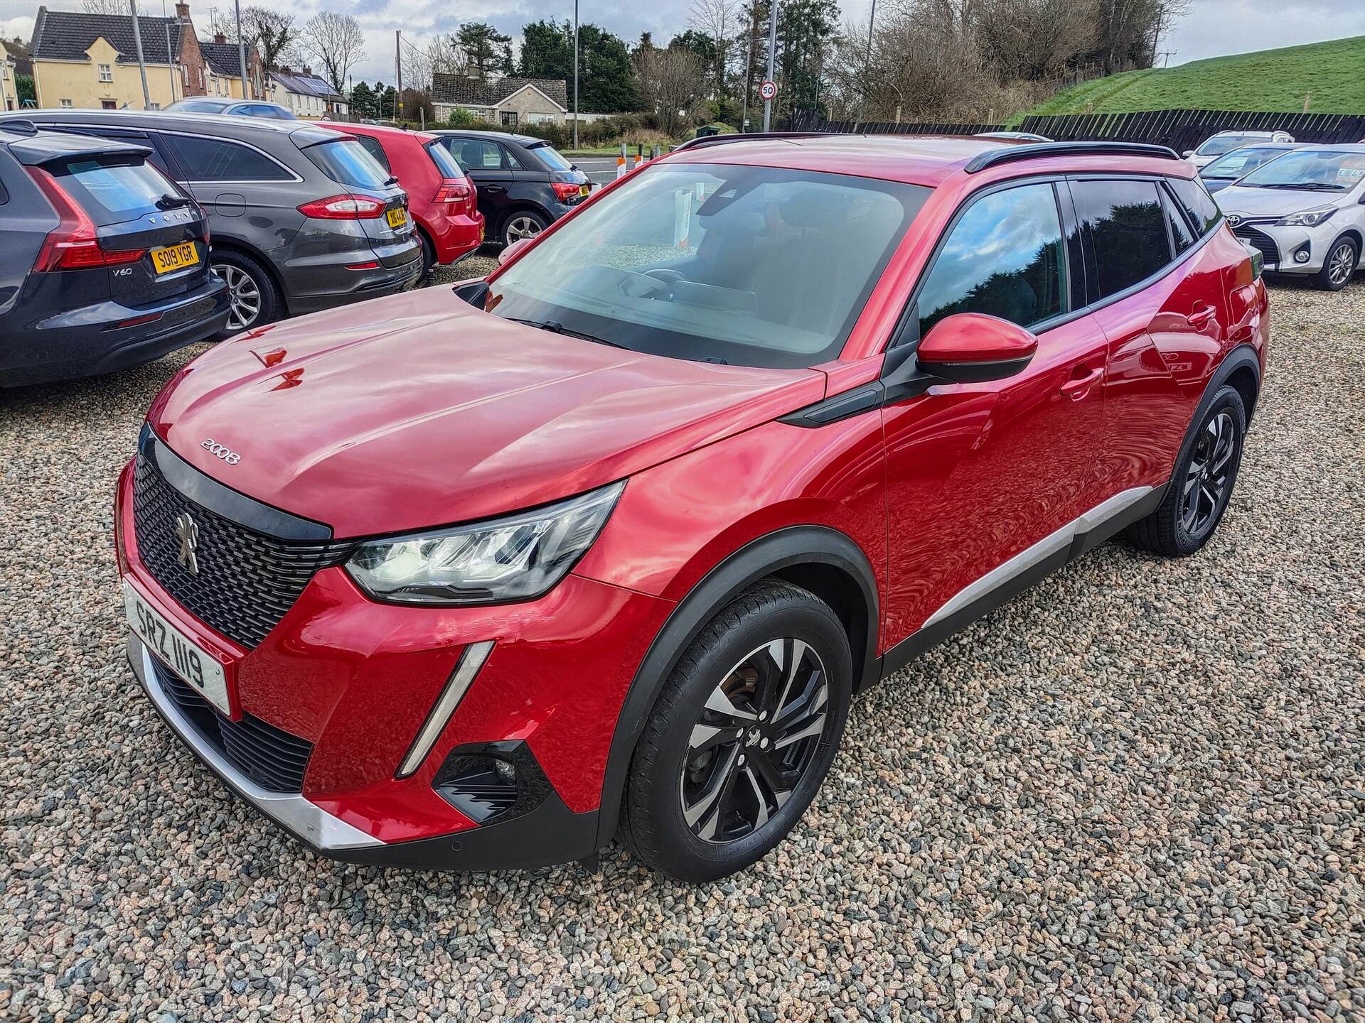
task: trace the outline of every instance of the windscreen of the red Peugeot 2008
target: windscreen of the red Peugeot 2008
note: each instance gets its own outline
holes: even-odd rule
[[[500,316],[677,359],[838,356],[928,188],[849,175],[657,164],[491,282]]]

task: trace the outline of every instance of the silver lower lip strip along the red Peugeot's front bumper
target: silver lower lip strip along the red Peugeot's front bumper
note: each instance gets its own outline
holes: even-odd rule
[[[293,832],[310,846],[324,853],[328,850],[385,844],[373,835],[347,824],[340,817],[333,817],[302,795],[270,792],[238,771],[222,754],[199,737],[198,730],[190,724],[186,716],[180,713],[180,708],[175,705],[175,701],[167,696],[157,679],[156,668],[152,664],[152,655],[147,653],[146,645],[136,636],[128,637],[128,663],[132,666],[132,674],[138,677],[138,682],[142,683],[152,702],[156,704],[157,711],[167,719],[172,731],[180,737],[180,741],[194,750],[195,756],[207,764],[218,777],[235,788],[243,799],[276,824]]]

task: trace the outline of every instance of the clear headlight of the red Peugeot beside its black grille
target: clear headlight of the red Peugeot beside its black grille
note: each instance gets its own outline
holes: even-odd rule
[[[377,600],[494,604],[531,600],[568,574],[597,539],[625,483],[534,512],[373,540],[347,572]]]

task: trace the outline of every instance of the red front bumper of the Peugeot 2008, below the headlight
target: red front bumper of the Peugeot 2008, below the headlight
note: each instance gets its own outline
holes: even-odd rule
[[[192,615],[143,562],[131,469],[116,512],[124,578],[224,666],[231,717],[184,712],[158,671],[175,677],[138,640],[128,659],[172,730],[238,795],[313,850],[349,862],[530,868],[591,857],[610,840],[598,809],[612,737],[670,602],[571,574],[526,604],[401,607],[369,600],[333,566],[248,648]],[[207,543],[212,514],[194,514]],[[475,644],[491,652],[442,722],[442,694]],[[429,720],[435,738],[404,773]],[[250,761],[224,756],[220,732],[261,723],[308,750],[289,791],[258,784]],[[490,749],[517,764],[516,803],[491,817],[461,812],[470,807],[442,771]]]

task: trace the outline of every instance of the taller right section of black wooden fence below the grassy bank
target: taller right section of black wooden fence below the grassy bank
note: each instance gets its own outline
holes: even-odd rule
[[[1177,153],[1219,131],[1287,131],[1295,142],[1360,142],[1365,117],[1349,113],[1256,113],[1248,110],[1141,110],[1025,117],[1020,131],[1058,142],[1155,142]]]

